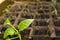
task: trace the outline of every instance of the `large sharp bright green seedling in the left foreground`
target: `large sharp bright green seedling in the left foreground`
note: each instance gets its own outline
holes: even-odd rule
[[[6,40],[13,40],[13,39],[16,39],[16,38],[19,38],[19,40],[22,40],[21,39],[21,34],[20,32],[25,30],[26,28],[28,28],[28,26],[34,21],[34,19],[26,19],[26,20],[23,20],[19,23],[18,25],[18,29],[17,30],[13,25],[12,23],[10,22],[9,18],[6,19],[6,21],[4,22],[4,25],[9,25],[10,27],[8,27],[5,32],[4,32],[4,39]],[[18,35],[17,37],[14,37],[14,38],[9,38],[8,36],[13,36],[13,35]]]

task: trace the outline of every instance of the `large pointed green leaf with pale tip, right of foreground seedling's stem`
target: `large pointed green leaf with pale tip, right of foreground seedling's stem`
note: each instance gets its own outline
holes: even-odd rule
[[[19,23],[18,25],[19,31],[23,31],[24,29],[26,29],[33,21],[34,19],[26,19]]]

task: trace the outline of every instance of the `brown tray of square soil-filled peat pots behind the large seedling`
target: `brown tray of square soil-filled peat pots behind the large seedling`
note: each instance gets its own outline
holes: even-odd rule
[[[58,4],[60,3],[57,3],[56,7],[59,13],[60,7]],[[51,10],[51,2],[15,2],[11,5],[9,12],[4,13],[0,17],[0,34],[3,34],[5,29],[9,27],[9,25],[3,25],[6,18],[9,17],[16,28],[22,20],[35,19],[26,30],[21,32],[22,37],[27,38],[27,40],[35,40],[34,38],[37,37],[60,37],[60,21],[56,19],[56,15],[53,16],[51,14]],[[36,40],[39,40],[39,38]]]

